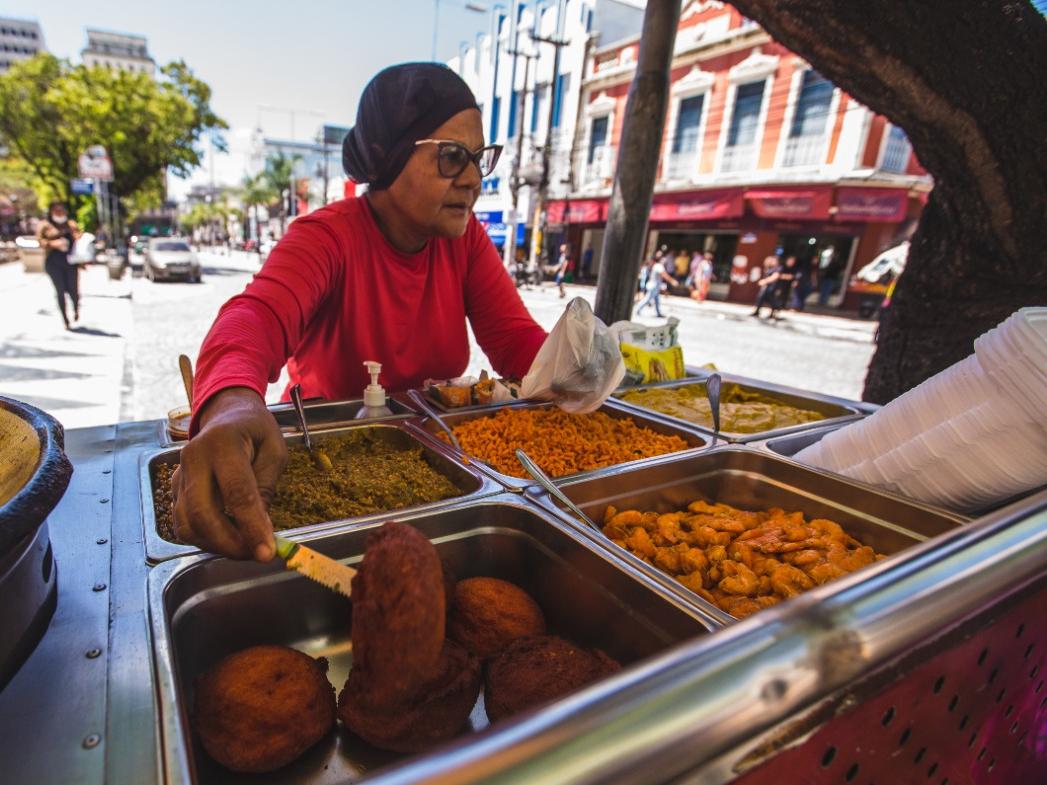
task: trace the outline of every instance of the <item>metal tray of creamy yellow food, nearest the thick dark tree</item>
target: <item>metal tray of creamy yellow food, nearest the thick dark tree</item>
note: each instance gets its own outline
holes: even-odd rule
[[[713,429],[711,426],[701,425],[700,423],[695,423],[690,420],[684,420],[681,418],[672,417],[671,414],[666,414],[658,409],[648,408],[642,406],[638,403],[631,403],[622,398],[626,392],[636,392],[645,389],[661,388],[661,387],[689,387],[691,385],[704,386],[705,380],[713,372],[708,372],[705,376],[693,378],[693,379],[675,379],[671,382],[656,382],[654,384],[642,384],[636,387],[629,387],[625,390],[616,390],[614,392],[615,400],[622,406],[626,406],[633,411],[643,411],[654,417],[662,418],[667,422],[675,423],[681,426],[692,428],[701,433],[712,433]],[[808,390],[797,389],[795,387],[785,387],[779,384],[773,384],[771,382],[758,382],[753,379],[747,379],[741,376],[733,376],[731,374],[720,374],[725,384],[737,384],[743,388],[752,389],[756,392],[763,392],[764,395],[773,396],[774,398],[780,400],[782,403],[788,404],[789,406],[796,406],[803,409],[809,409],[811,411],[817,411],[825,416],[824,420],[818,420],[812,423],[801,423],[799,425],[790,425],[787,428],[772,428],[771,430],[757,431],[756,433],[736,433],[733,431],[721,430],[719,435],[721,439],[728,442],[734,442],[736,444],[744,444],[749,442],[759,442],[765,439],[773,439],[775,436],[782,436],[787,433],[796,433],[799,431],[807,430],[808,428],[820,428],[829,424],[842,424],[851,420],[857,420],[866,416],[866,411],[860,408],[854,401],[848,401],[844,398],[834,398],[833,396],[825,396],[820,392],[810,392]]]

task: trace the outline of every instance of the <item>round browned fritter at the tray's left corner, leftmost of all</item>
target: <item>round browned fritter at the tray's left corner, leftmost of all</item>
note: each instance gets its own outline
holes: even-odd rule
[[[284,646],[230,654],[196,681],[193,725],[203,748],[233,771],[272,771],[334,725],[327,660]]]

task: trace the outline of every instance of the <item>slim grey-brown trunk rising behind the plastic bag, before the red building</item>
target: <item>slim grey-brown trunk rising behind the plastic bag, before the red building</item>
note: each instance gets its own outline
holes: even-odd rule
[[[669,105],[669,66],[678,22],[680,0],[648,0],[637,73],[625,104],[596,290],[596,314],[608,324],[632,315]]]

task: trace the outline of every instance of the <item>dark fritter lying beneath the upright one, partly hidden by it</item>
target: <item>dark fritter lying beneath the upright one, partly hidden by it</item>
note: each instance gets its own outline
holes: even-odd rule
[[[437,673],[411,702],[386,709],[370,701],[355,667],[338,696],[338,717],[364,741],[395,753],[417,753],[461,731],[480,695],[480,660],[453,641],[441,652]]]

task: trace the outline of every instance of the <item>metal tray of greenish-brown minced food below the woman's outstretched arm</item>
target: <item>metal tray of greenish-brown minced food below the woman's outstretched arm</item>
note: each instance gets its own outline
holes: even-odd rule
[[[431,501],[426,504],[418,504],[411,508],[404,508],[403,510],[388,510],[384,512],[372,513],[357,518],[336,521],[320,521],[312,523],[308,526],[284,530],[281,532],[281,535],[291,539],[297,539],[303,535],[340,525],[344,523],[346,520],[366,521],[379,518],[384,519],[388,518],[391,514],[402,514],[404,510],[409,512],[413,510],[428,510],[447,507],[448,504],[458,503],[466,498],[489,496],[491,494],[498,493],[502,490],[498,484],[493,479],[484,473],[476,471],[476,469],[463,464],[453,454],[452,450],[443,448],[441,445],[432,444],[431,440],[419,439],[416,435],[416,431],[404,427],[405,422],[406,421],[403,418],[400,418],[398,421],[383,421],[377,424],[369,422],[369,424],[365,425],[358,424],[348,428],[343,427],[320,431],[319,435],[313,439],[313,443],[322,444],[327,439],[336,439],[339,435],[349,433],[357,428],[369,428],[379,430],[382,433],[387,433],[392,439],[402,440],[404,446],[411,444],[420,445],[423,449],[425,459],[429,463],[429,465],[437,469],[440,473],[446,475],[455,486],[459,487],[459,489],[461,489],[462,494],[460,496],[449,499],[441,499],[440,501]],[[302,444],[303,438],[300,435],[286,434],[284,436],[284,441],[287,442],[290,447],[292,445]],[[151,563],[200,553],[200,548],[195,545],[179,545],[178,543],[163,539],[160,537],[156,528],[156,508],[153,501],[156,467],[159,464],[177,464],[181,454],[181,447],[175,447],[173,449],[146,453],[141,456],[139,462],[141,519],[146,535],[146,556],[147,560]]]

